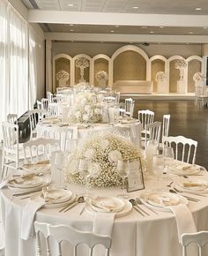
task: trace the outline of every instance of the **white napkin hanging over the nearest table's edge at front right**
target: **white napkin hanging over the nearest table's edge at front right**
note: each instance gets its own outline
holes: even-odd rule
[[[183,233],[197,232],[196,224],[189,207],[183,204],[169,207],[175,215],[178,230],[178,240],[181,243]],[[197,254],[196,254],[197,255]]]

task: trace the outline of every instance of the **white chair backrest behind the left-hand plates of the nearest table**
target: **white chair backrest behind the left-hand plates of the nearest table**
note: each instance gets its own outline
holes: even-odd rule
[[[23,143],[25,162],[38,162],[42,159],[49,159],[51,152],[58,150],[59,140],[38,138]]]

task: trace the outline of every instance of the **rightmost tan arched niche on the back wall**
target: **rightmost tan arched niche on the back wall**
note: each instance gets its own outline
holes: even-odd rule
[[[195,82],[193,76],[196,72],[202,72],[203,58],[200,56],[189,56],[188,62],[188,93],[195,92]]]

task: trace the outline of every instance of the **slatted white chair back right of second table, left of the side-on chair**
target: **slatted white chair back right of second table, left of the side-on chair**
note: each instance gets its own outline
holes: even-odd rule
[[[160,129],[161,122],[146,124],[145,145],[149,139],[154,139],[158,142],[158,144],[160,143]]]

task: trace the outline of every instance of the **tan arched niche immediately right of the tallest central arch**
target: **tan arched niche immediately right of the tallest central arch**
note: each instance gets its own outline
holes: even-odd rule
[[[150,62],[151,62],[151,80],[153,85],[153,92],[156,93],[158,88],[157,88],[157,81],[155,81],[155,76],[157,72],[166,72],[167,58],[164,56],[152,56],[150,58]]]

